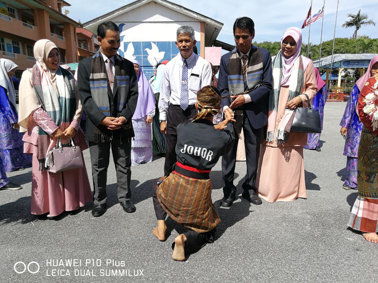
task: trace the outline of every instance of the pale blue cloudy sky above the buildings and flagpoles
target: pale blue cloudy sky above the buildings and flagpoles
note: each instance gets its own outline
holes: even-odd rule
[[[133,0],[67,0],[72,6],[65,7],[73,20],[85,23],[104,15]],[[255,40],[262,42],[279,41],[285,29],[292,26],[302,27],[310,8],[310,0],[170,0],[192,11],[203,14],[223,23],[218,40],[234,45],[232,25],[237,17],[250,17],[255,23]],[[312,15],[323,6],[324,0],[313,0]],[[104,5],[106,3],[106,5]],[[324,8],[323,41],[333,38],[337,0],[326,0]],[[336,23],[336,37],[351,37],[354,29],[343,29],[347,14],[356,14],[359,9],[372,18],[377,25],[363,27],[358,35],[378,38],[378,0],[340,0]],[[322,20],[311,24],[310,42],[320,43]],[[148,32],[148,31],[147,31]],[[303,42],[308,41],[308,27],[302,29]]]

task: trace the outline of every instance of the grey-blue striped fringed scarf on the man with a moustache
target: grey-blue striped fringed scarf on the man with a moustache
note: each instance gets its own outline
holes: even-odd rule
[[[118,54],[115,55],[115,74],[114,74],[114,86],[118,86],[118,90],[115,88],[113,91],[117,91],[117,105],[118,105],[118,115],[121,115],[122,110],[124,109],[125,104],[127,103],[127,94],[130,85],[130,75],[127,72],[125,66],[126,59],[122,58]],[[101,49],[93,55],[92,57],[92,66],[91,74],[89,78],[90,89],[93,100],[98,107],[98,109],[104,113],[106,116],[110,116],[110,103],[108,98],[108,79],[107,73],[105,70],[105,62],[102,58]],[[134,130],[131,119],[126,121],[121,126],[121,129],[116,130],[121,131],[119,134],[119,140],[131,141],[133,138]],[[95,142],[105,142],[113,140],[113,131],[102,132],[97,127],[95,127]]]

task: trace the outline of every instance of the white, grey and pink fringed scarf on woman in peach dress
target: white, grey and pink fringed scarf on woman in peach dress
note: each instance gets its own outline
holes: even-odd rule
[[[285,109],[285,113],[278,125],[276,137],[274,136],[274,129],[277,120],[278,101],[281,89],[282,80],[282,51],[278,52],[274,58],[273,64],[273,89],[270,91],[268,104],[268,126],[266,132],[266,141],[272,142],[277,138],[277,145],[286,143],[289,139],[291,125],[293,124],[295,110]],[[294,62],[293,69],[290,75],[289,83],[289,100],[301,94],[301,89],[304,80],[303,58],[299,56]]]

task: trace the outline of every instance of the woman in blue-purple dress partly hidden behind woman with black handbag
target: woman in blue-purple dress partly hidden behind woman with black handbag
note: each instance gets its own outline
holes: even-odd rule
[[[314,69],[315,69],[315,74],[316,74],[316,84],[318,86],[319,91],[316,93],[314,97],[314,100],[312,102],[312,108],[316,109],[316,111],[319,112],[321,127],[323,129],[324,105],[328,96],[327,86],[325,85],[324,80],[322,80],[322,78],[320,77],[318,68],[314,68]],[[305,145],[303,148],[315,149],[316,151],[321,151],[320,145],[319,145],[319,138],[320,138],[320,134],[308,134],[307,145]]]

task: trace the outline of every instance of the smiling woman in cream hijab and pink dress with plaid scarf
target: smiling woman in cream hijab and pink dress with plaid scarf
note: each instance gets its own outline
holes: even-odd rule
[[[82,106],[73,75],[59,67],[57,46],[47,39],[34,45],[37,62],[22,74],[19,89],[19,125],[24,152],[33,155],[31,213],[51,219],[74,211],[92,199],[85,165],[80,169],[50,173],[45,157],[56,140],[73,138],[81,150],[88,146],[81,131]],[[83,158],[84,163],[84,158]]]

